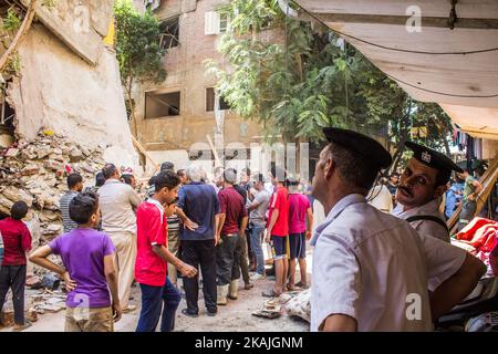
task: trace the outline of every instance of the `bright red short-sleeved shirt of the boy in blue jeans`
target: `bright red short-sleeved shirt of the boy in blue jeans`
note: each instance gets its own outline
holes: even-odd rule
[[[166,215],[153,202],[144,201],[136,210],[135,279],[138,283],[163,287],[166,282],[167,263],[153,250],[153,244],[168,247]]]

